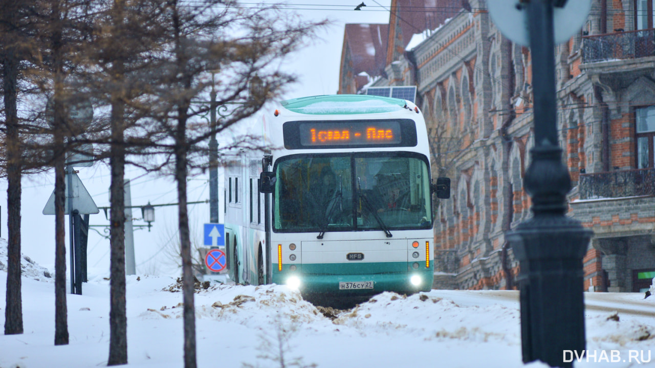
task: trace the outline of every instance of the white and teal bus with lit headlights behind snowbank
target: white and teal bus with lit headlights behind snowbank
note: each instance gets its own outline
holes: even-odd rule
[[[271,151],[225,168],[229,278],[303,295],[429,291],[434,275],[428,134],[411,101],[367,95],[282,101],[263,115]]]

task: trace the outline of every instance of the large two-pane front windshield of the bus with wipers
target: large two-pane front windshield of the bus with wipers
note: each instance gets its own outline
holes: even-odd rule
[[[416,153],[292,155],[276,163],[277,232],[430,229],[430,173]],[[388,229],[388,230],[386,230]]]

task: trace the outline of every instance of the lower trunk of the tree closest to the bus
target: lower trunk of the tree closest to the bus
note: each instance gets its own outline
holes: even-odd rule
[[[175,178],[178,182],[178,227],[180,253],[182,255],[182,285],[184,293],[184,367],[196,368],[196,316],[195,303],[193,301],[193,259],[191,258],[189,213],[187,212],[187,147],[185,145],[185,134],[185,121],[178,122]]]

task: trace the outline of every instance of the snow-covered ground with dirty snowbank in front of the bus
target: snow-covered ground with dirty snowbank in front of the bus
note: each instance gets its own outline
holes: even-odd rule
[[[2,326],[6,247],[0,240]],[[54,270],[27,259],[23,265],[24,333],[0,335],[0,368],[105,366],[108,274],[91,276],[83,295],[67,295],[70,343],[54,346],[54,280],[48,277]],[[128,276],[128,367],[183,367],[180,289],[176,278]],[[575,367],[655,366],[655,297],[585,296],[591,355]],[[199,288],[195,304],[201,368],[280,367],[274,361],[280,343],[287,367],[294,359],[299,367],[326,368],[524,367],[516,291],[382,293],[352,310],[334,311],[314,307],[286,286],[213,284]]]

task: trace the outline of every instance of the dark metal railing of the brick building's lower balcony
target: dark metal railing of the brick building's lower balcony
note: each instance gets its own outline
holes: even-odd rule
[[[655,195],[655,169],[580,174],[580,199]]]

